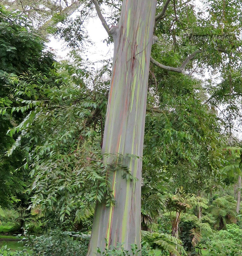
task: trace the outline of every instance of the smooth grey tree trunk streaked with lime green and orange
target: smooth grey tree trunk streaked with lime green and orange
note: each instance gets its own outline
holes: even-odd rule
[[[97,203],[87,255],[123,243],[141,245],[141,172],[146,98],[156,0],[124,0],[119,25],[112,27],[114,61],[103,138],[104,161],[122,154],[122,164],[138,179],[123,179],[122,171],[109,173],[116,205]],[[127,155],[128,154],[128,155]],[[132,157],[130,155],[139,156]]]

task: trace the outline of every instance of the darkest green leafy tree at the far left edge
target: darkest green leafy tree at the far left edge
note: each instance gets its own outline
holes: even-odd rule
[[[44,42],[34,32],[26,16],[19,11],[10,12],[0,5],[0,109],[4,108],[3,112],[6,112],[0,117],[0,205],[4,207],[26,203],[23,191],[28,185],[28,173],[23,169],[15,173],[24,158],[21,149],[11,157],[5,156],[16,139],[6,136],[7,130],[23,118],[22,114],[11,115],[5,109],[19,106],[8,86],[12,85],[11,78],[21,73],[42,71],[47,74],[52,62],[51,54],[44,51]]]

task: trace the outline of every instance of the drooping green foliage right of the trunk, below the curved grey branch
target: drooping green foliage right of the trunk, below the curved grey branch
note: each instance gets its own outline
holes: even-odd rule
[[[182,187],[183,192],[197,194],[196,189],[205,187],[212,173],[220,175],[224,161],[217,119],[201,104],[198,81],[162,72],[157,76],[158,96],[151,93],[148,98],[144,172],[164,170],[172,193]],[[176,86],[171,88],[171,84]]]

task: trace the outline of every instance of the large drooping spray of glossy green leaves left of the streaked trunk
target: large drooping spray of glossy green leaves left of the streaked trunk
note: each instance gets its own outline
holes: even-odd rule
[[[106,111],[106,88],[89,89],[89,73],[71,65],[60,67],[53,84],[43,74],[13,78],[13,92],[20,107],[12,112],[26,114],[8,131],[18,139],[8,154],[21,146],[27,157],[34,192],[30,208],[64,216],[75,209],[77,218],[89,218],[96,200],[113,203],[104,173],[118,166],[102,162],[101,140]],[[33,212],[34,214],[34,212]]]

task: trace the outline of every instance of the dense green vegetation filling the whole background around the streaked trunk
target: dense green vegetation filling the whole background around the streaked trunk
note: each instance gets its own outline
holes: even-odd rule
[[[157,12],[165,2],[170,1],[158,1]],[[132,245],[130,252],[122,243],[108,248],[107,243],[98,254],[241,255],[242,7],[233,1],[234,9],[230,2],[207,0],[200,10],[192,1],[174,1],[157,20],[159,40],[152,56],[166,67],[179,67],[199,52],[183,73],[152,61],[142,164],[142,251]],[[82,7],[80,17],[93,8],[86,1],[74,3]],[[116,22],[121,2],[103,4],[113,8],[107,20]],[[112,164],[103,160],[112,60],[103,61],[99,70],[90,68],[81,57],[83,45],[90,43],[80,32],[85,18],[69,17],[69,4],[61,5],[63,13],[54,1],[41,6],[45,12],[34,1],[25,11],[17,0],[0,5],[0,255],[82,256],[96,202],[118,204],[108,173],[121,172],[130,182],[136,177],[123,165],[126,156],[112,156]],[[212,40],[211,31],[232,39]],[[65,40],[68,61],[56,61],[47,50],[48,33]],[[204,34],[209,36],[202,41],[191,39]],[[202,79],[204,70],[212,79]],[[17,251],[4,243],[16,242],[13,234],[22,241]]]

